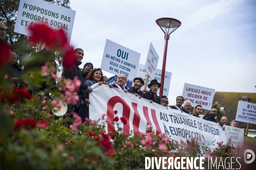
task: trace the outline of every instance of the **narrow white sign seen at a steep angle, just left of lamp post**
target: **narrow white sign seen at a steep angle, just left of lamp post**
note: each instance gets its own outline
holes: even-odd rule
[[[157,51],[154,49],[154,46],[150,42],[148,49],[148,57],[145,63],[145,71],[148,73],[149,77],[154,77],[157,71],[158,59],[159,56],[157,54]]]

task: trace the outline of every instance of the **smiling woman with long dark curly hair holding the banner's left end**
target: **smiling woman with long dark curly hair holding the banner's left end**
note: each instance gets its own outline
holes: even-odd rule
[[[89,74],[86,77],[86,82],[84,83],[88,87],[94,85],[95,83],[99,83],[99,85],[102,85],[102,70],[101,68],[94,68],[89,72]],[[81,106],[79,109],[79,116],[82,118],[82,121],[85,121],[85,118],[87,117],[89,119],[89,91],[84,90],[85,94],[85,100],[81,102]]]

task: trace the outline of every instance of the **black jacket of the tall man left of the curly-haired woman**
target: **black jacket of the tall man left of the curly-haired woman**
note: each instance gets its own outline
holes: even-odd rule
[[[81,100],[84,101],[85,94],[84,94],[83,90],[86,90],[88,88],[88,86],[83,83],[82,71],[79,68],[79,65],[81,65],[81,63],[82,62],[77,61],[76,64],[73,66],[73,68],[64,69],[63,75],[66,79],[74,79],[76,76],[78,77],[78,79],[81,81],[81,86],[80,86],[80,90],[78,91],[78,95],[81,97]]]

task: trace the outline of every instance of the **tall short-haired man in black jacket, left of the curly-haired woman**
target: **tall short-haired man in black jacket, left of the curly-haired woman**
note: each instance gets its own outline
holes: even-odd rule
[[[85,95],[83,93],[83,90],[88,90],[89,93],[93,91],[92,88],[88,87],[86,84],[83,84],[83,80],[82,80],[82,71],[81,69],[79,68],[79,65],[81,65],[81,60],[84,58],[84,51],[81,49],[81,48],[76,48],[74,50],[74,53],[76,55],[76,64],[70,68],[70,69],[65,69],[64,68],[64,71],[62,72],[62,74],[64,75],[64,77],[66,79],[74,79],[76,76],[78,77],[78,79],[81,81],[81,86],[80,86],[80,89],[78,91],[78,95],[80,96],[81,95],[81,99],[84,101],[86,98],[85,98]],[[75,111],[78,113],[79,111],[79,107],[80,107],[80,103],[78,103],[78,105],[68,105],[68,113],[71,113],[71,111],[73,110],[73,108],[75,108]]]

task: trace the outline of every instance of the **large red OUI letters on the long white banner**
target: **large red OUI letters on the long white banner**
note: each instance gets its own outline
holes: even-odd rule
[[[122,99],[119,96],[113,96],[111,99],[109,99],[108,103],[107,103],[107,119],[108,119],[108,132],[111,132],[115,129],[114,125],[112,124],[112,121],[114,119],[114,106],[116,105],[116,103],[121,103],[123,106],[123,111],[122,111],[122,116],[125,117],[125,119],[127,119],[128,124],[124,125],[123,127],[123,134],[127,134],[130,131],[130,122],[129,122],[129,118],[130,118],[130,112],[131,112],[131,108],[130,106],[125,102],[124,99]],[[131,102],[131,106],[134,110],[134,118],[132,121],[132,125],[133,125],[133,130],[134,130],[134,135],[137,135],[137,132],[139,132],[139,125],[140,125],[140,113],[137,110],[137,103]],[[143,114],[145,116],[147,125],[152,125],[150,119],[149,119],[149,115],[148,115],[148,108],[143,106]],[[161,129],[160,126],[158,124],[157,121],[157,116],[156,116],[156,111],[154,109],[151,109],[151,115],[152,115],[152,119],[154,122],[154,125],[156,126],[156,134],[159,135],[161,134]]]

